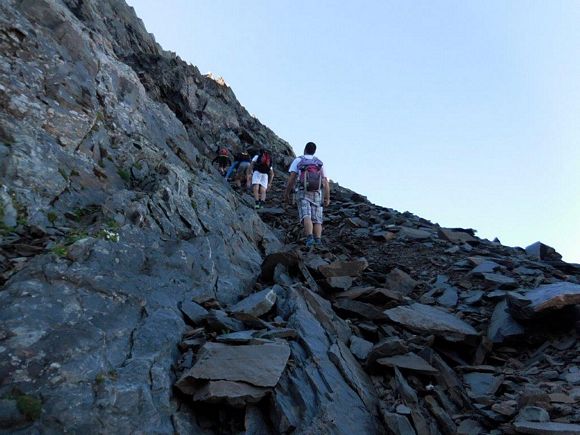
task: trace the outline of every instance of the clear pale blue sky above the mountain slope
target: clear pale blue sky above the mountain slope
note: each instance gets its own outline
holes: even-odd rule
[[[580,1],[129,4],[340,184],[580,262]]]

